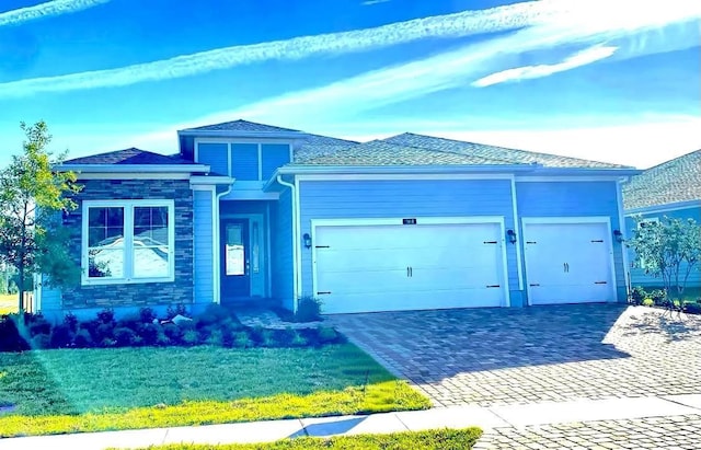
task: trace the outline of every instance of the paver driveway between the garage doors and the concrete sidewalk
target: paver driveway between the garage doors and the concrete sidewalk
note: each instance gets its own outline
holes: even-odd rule
[[[701,319],[618,304],[329,320],[436,406],[701,393]]]

